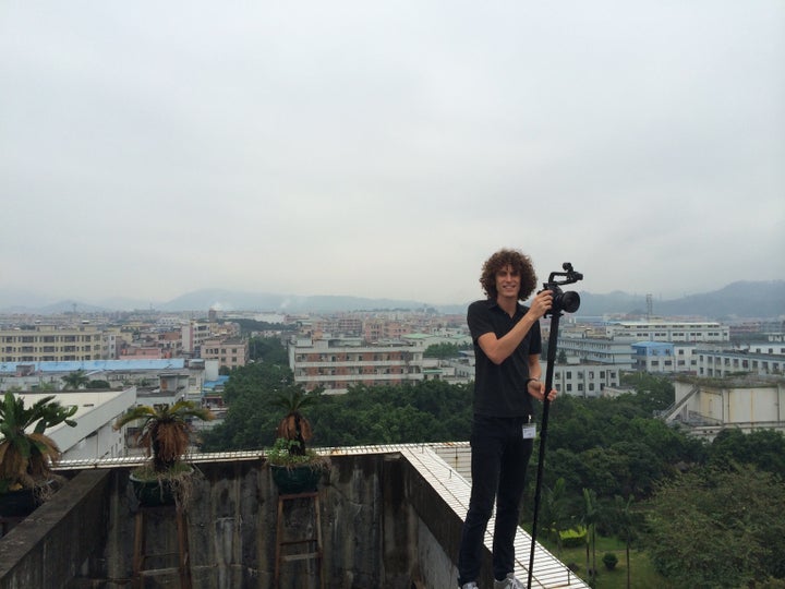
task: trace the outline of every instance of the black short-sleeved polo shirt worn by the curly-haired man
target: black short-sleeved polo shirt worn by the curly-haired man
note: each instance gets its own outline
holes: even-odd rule
[[[487,417],[526,417],[533,412],[532,397],[526,389],[529,356],[542,351],[540,322],[534,322],[523,341],[500,364],[494,364],[478,344],[480,336],[506,335],[529,311],[517,304],[509,316],[495,300],[475,301],[469,305],[467,323],[474,341],[474,413]]]

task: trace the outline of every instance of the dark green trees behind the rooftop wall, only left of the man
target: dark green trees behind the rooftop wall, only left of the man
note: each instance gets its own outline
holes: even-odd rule
[[[232,372],[225,388],[224,423],[204,436],[206,452],[271,446],[281,397],[297,395],[289,369],[257,362]],[[314,392],[309,407],[312,446],[353,446],[466,440],[471,426],[471,388],[439,381],[415,385],[357,386],[346,395]]]

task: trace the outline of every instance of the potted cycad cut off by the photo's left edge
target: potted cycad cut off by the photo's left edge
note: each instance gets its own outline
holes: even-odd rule
[[[61,479],[51,470],[60,448],[44,432],[63,422],[76,425],[70,418],[77,408],[53,399],[49,395],[25,407],[24,398],[8,392],[0,404],[0,515],[29,515]]]

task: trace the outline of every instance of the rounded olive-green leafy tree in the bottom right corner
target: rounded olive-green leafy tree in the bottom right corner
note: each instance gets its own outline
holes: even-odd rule
[[[671,480],[648,512],[648,550],[678,587],[738,588],[785,578],[785,485],[750,466]]]

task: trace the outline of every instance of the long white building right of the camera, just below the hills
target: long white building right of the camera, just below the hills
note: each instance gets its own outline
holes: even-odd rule
[[[730,327],[715,321],[621,321],[606,325],[605,335],[632,341],[730,341]]]

